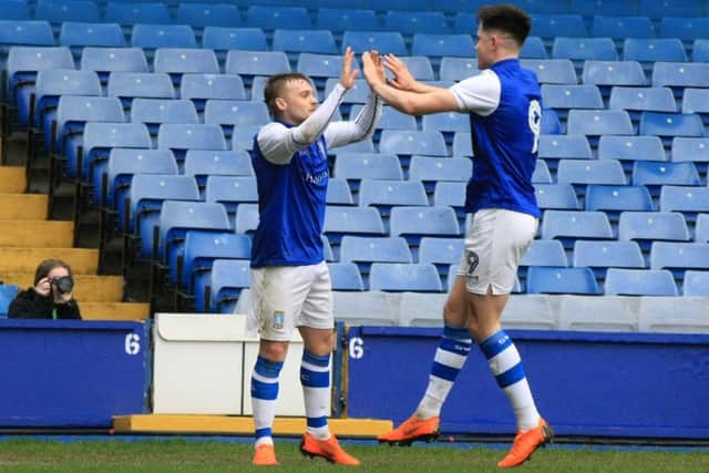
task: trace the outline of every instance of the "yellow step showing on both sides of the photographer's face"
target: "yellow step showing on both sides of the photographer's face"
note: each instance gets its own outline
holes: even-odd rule
[[[0,274],[4,284],[13,284],[20,289],[32,287],[34,273]],[[121,276],[74,276],[74,297],[82,302],[120,302],[123,298],[123,277]]]

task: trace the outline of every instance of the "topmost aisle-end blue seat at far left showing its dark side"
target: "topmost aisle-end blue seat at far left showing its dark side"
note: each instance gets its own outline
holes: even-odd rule
[[[34,93],[37,73],[52,69],[75,69],[69,48],[13,47],[8,54],[8,93],[18,107],[18,124],[27,126],[30,95]]]

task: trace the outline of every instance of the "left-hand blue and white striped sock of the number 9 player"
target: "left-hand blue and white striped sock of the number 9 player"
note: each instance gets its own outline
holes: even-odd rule
[[[429,419],[441,414],[443,402],[465,364],[472,342],[467,328],[448,325],[443,328],[443,337],[433,358],[429,387],[417,408],[418,418]]]

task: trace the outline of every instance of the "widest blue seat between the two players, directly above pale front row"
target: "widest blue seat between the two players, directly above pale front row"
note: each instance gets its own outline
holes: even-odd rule
[[[369,288],[383,291],[443,291],[439,273],[430,264],[372,263]]]

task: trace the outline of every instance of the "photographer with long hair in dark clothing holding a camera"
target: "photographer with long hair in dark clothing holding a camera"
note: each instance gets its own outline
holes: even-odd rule
[[[34,287],[17,295],[10,304],[11,319],[81,319],[73,298],[71,267],[59,259],[47,259],[37,267]]]

